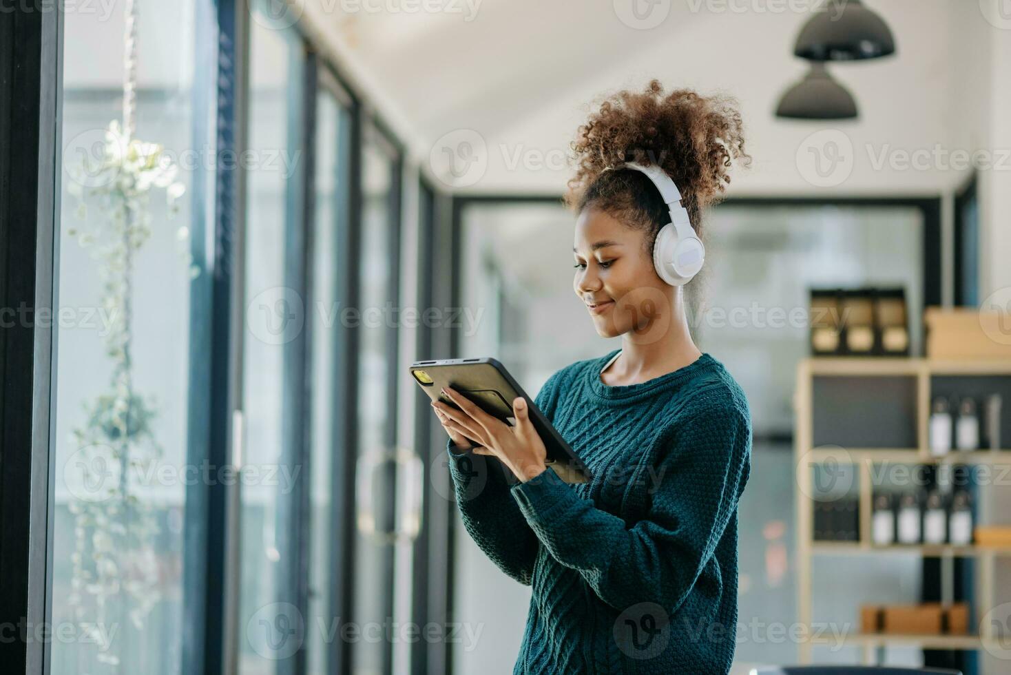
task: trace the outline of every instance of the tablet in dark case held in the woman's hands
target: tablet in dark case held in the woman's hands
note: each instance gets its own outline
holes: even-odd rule
[[[566,483],[585,483],[592,478],[589,469],[576,456],[558,430],[538,409],[534,399],[517,384],[505,366],[491,359],[444,359],[442,361],[416,361],[410,364],[410,375],[429,398],[458,408],[441,389],[447,385],[473,401],[488,414],[515,425],[513,399],[523,396],[530,406],[530,421],[544,441],[547,451],[545,464],[551,467]]]

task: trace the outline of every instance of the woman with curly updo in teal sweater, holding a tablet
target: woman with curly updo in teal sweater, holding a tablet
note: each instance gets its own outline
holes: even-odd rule
[[[572,149],[573,287],[622,347],[556,372],[536,403],[593,478],[566,484],[545,465],[523,398],[509,426],[447,389],[460,409],[433,407],[463,522],[532,586],[515,673],[727,673],[751,417],[733,377],[693,343],[686,279],[654,264],[657,232],[680,211],[629,163],[673,179],[699,232],[732,161],[750,162],[741,118],[732,99],[664,95],[654,80],[606,100]]]

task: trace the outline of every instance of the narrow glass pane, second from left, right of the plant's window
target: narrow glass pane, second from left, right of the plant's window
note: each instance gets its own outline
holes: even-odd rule
[[[304,325],[297,194],[303,52],[291,31],[250,22],[249,174],[243,339],[239,667],[273,673],[301,645],[297,532],[302,478],[293,442]]]

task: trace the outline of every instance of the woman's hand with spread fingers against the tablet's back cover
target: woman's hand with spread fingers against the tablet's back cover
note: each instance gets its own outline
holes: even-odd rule
[[[472,452],[497,457],[524,483],[545,470],[547,450],[530,421],[530,409],[522,396],[513,400],[516,426],[510,426],[489,415],[452,387],[446,387],[442,391],[460,409],[440,401],[433,401],[432,406],[443,418],[449,417],[448,426],[483,446],[474,448]]]

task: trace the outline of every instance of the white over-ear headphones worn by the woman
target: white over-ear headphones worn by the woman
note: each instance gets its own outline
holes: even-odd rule
[[[608,169],[635,169],[646,174],[649,180],[660,191],[667,209],[670,212],[670,222],[656,233],[653,245],[653,267],[656,274],[671,286],[683,286],[699,274],[706,262],[706,247],[692,228],[688,212],[681,205],[681,193],[674,181],[663,169],[646,167],[637,162],[626,162]]]

